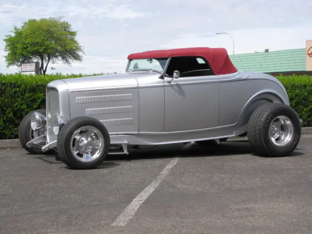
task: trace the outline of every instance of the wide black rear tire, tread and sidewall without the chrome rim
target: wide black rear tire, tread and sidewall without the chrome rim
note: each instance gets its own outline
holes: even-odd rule
[[[277,116],[286,116],[292,122],[292,137],[283,146],[276,145],[270,139],[269,127]],[[266,103],[259,106],[249,119],[247,136],[254,153],[259,156],[290,156],[297,147],[301,137],[300,119],[288,105],[282,103]]]

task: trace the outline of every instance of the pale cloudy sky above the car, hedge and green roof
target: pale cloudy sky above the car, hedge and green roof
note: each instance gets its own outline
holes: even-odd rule
[[[123,72],[130,53],[179,47],[223,47],[235,54],[304,48],[312,39],[312,0],[0,0],[0,73],[4,35],[28,19],[63,16],[85,49],[82,62],[55,72]],[[51,65],[48,73],[52,73]]]

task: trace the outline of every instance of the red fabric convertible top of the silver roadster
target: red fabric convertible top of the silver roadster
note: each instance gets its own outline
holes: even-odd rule
[[[169,50],[152,50],[130,54],[128,59],[156,59],[180,56],[200,56],[205,58],[209,62],[215,75],[237,72],[237,69],[229,58],[228,52],[224,48],[195,47]]]

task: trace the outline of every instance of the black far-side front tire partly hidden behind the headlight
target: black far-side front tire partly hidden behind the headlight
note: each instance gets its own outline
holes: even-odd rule
[[[35,110],[36,112],[46,116],[46,111],[45,109],[38,109]],[[30,136],[30,131],[31,131],[31,126],[30,126],[30,120],[31,120],[31,115],[33,114],[34,111],[29,112],[23,119],[20,121],[20,126],[19,126],[19,140],[21,146],[28,151],[29,153],[33,155],[38,155],[38,154],[50,154],[54,153],[54,150],[49,150],[47,152],[43,152],[42,150],[35,148],[35,147],[27,147],[26,143],[33,138]],[[33,132],[33,131],[32,131]]]

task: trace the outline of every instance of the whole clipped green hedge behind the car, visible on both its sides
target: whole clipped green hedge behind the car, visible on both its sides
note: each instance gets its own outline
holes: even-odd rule
[[[104,74],[82,75],[21,75],[0,74],[0,139],[18,138],[20,120],[30,111],[45,109],[45,87],[52,80]],[[290,98],[291,106],[312,126],[312,77],[278,76]]]

